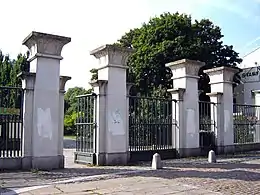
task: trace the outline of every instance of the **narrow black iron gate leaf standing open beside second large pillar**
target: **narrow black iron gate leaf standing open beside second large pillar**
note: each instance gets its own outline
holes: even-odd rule
[[[96,164],[96,94],[78,96],[75,162]]]

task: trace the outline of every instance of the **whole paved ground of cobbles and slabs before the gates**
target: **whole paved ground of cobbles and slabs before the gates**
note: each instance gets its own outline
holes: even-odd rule
[[[74,149],[64,149],[65,169],[1,172],[1,195],[38,194],[260,194],[260,153],[150,162],[132,166],[85,166],[73,163]]]

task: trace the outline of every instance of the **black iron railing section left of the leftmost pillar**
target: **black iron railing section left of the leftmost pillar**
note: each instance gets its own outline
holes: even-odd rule
[[[23,89],[0,87],[0,158],[22,156]]]

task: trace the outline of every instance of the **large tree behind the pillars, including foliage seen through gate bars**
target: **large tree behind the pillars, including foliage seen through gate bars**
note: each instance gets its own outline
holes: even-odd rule
[[[172,72],[165,67],[165,64],[186,58],[205,62],[205,66],[198,73],[200,76],[198,89],[202,91],[200,100],[208,100],[206,93],[210,92],[209,77],[203,70],[219,66],[236,67],[238,63],[242,62],[233,46],[225,45],[222,38],[221,29],[210,20],[202,19],[192,22],[191,16],[179,13],[164,13],[159,17],[151,18],[140,28],[131,29],[115,43],[134,49],[128,60],[127,73],[128,82],[135,83],[131,95],[167,97],[167,89],[173,88],[173,86]],[[97,78],[97,71],[92,70],[91,72],[94,73],[92,78]],[[140,138],[139,140],[143,141],[147,137],[152,137],[150,144],[156,145],[156,140],[160,140],[157,132],[168,132],[166,126],[161,130],[158,129],[158,126],[154,126],[156,130],[153,131],[151,130],[153,125],[150,125],[150,129],[147,130],[146,125],[142,124],[147,124],[144,121],[156,124],[158,119],[171,118],[173,113],[161,112],[165,109],[161,109],[158,104],[149,103],[149,106],[146,106],[142,100],[135,100],[140,102],[136,106],[136,102],[133,103],[132,99],[133,97],[129,100],[130,144],[147,146],[146,143],[141,142],[131,143],[136,140],[136,136],[132,135],[135,134]],[[171,105],[172,103],[169,103],[168,107]],[[167,102],[162,102],[162,108],[164,106],[167,107]],[[152,111],[149,110],[150,107],[153,107]],[[209,115],[210,110],[207,113]],[[208,115],[206,116],[207,121],[210,118]],[[138,119],[137,126],[131,125],[131,118],[134,122]],[[202,124],[205,124],[205,121],[200,121],[201,126]],[[141,132],[141,134],[136,134],[136,132]],[[166,133],[164,136],[168,137],[170,134]],[[204,139],[203,136],[202,139]],[[164,141],[171,145],[167,140]]]

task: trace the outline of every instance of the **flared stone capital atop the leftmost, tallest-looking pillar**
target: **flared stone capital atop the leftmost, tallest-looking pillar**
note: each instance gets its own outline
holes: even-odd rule
[[[31,32],[22,42],[30,50],[30,61],[36,57],[62,59],[61,51],[71,38],[41,32]]]

